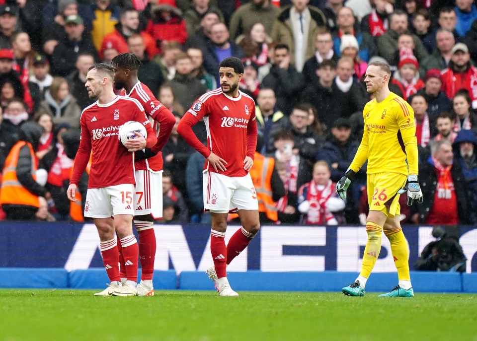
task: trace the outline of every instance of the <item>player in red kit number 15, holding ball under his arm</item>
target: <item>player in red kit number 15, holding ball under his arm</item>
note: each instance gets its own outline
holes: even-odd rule
[[[76,201],[79,177],[91,155],[84,216],[93,218],[98,229],[101,255],[111,282],[95,295],[135,296],[138,293],[138,243],[132,226],[136,184],[132,152],[151,148],[158,139],[141,103],[115,95],[113,82],[114,70],[110,65],[94,64],[89,68],[85,87],[89,98],[97,97],[98,100],[86,107],[79,119],[81,139],[67,195],[69,200]],[[141,122],[148,137],[136,133],[137,138],[128,140],[123,146],[118,141],[118,131],[128,121]],[[124,285],[120,282],[115,232],[128,264]]]

